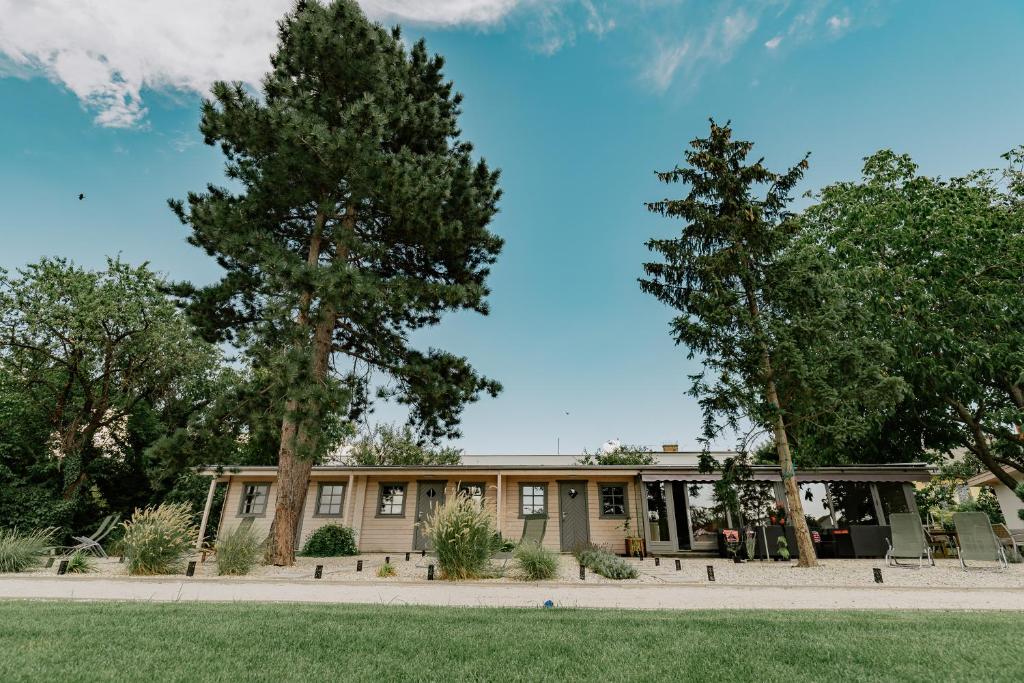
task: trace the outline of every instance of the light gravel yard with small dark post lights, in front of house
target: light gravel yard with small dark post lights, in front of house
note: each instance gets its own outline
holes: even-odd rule
[[[381,579],[377,569],[390,557],[396,575]],[[362,570],[356,570],[356,563],[362,562]],[[935,587],[935,588],[1024,588],[1024,564],[1011,564],[1006,571],[972,570],[965,572],[955,559],[938,559],[936,566],[926,566],[923,569],[887,567],[882,559],[861,560],[820,560],[821,566],[811,569],[801,569],[796,562],[745,562],[735,564],[729,560],[708,558],[681,558],[680,569],[675,568],[675,558],[663,557],[659,565],[652,558],[645,560],[632,559],[640,571],[635,580],[611,581],[587,571],[584,582],[580,580],[580,568],[571,555],[560,556],[559,578],[540,584],[708,584],[708,565],[715,568],[716,584],[720,586],[819,586],[819,587],[857,587],[874,584],[872,568],[881,567],[884,583],[899,587]],[[285,581],[313,581],[313,572],[317,564],[324,565],[324,582],[377,582],[381,584],[422,582],[427,579],[427,566],[431,563],[430,556],[422,557],[413,553],[406,560],[404,553],[392,555],[366,554],[355,557],[299,557],[291,567],[257,566],[245,579],[267,579]],[[96,571],[87,574],[91,577],[126,575],[124,564],[118,558],[94,560]],[[505,575],[501,579],[482,580],[481,583],[516,583],[521,582],[516,575],[515,561],[498,559],[495,564],[505,567]],[[914,565],[915,566],[915,565]],[[49,568],[8,577],[43,577],[56,574],[56,563]],[[208,558],[205,563],[196,567],[196,575],[215,578],[216,562]],[[232,578],[221,578],[231,581]]]

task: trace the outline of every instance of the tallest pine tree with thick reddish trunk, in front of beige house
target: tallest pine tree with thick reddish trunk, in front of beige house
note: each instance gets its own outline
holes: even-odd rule
[[[294,562],[296,526],[327,416],[374,397],[410,408],[428,437],[500,386],[465,358],[411,346],[449,310],[486,313],[502,241],[487,229],[498,172],[460,138],[461,95],[423,41],[367,19],[353,0],[298,2],[280,23],[263,96],[217,83],[200,128],[231,188],[171,202],[189,241],[226,271],[188,286],[211,338],[275,368],[282,427],[267,560]]]

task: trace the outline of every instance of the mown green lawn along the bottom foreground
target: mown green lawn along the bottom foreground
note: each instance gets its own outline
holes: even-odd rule
[[[0,602],[0,681],[1020,680],[1024,614]]]

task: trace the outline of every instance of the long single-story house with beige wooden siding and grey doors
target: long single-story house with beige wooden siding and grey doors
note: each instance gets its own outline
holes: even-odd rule
[[[743,518],[736,519],[735,511],[717,503],[714,484],[720,475],[700,472],[698,454],[669,445],[653,455],[657,464],[643,466],[585,466],[577,464],[578,456],[465,456],[460,465],[432,467],[317,466],[310,475],[297,542],[301,547],[321,526],[340,523],[355,530],[361,552],[423,550],[427,540],[417,522],[460,490],[492,512],[506,539],[518,540],[527,517],[544,517],[543,545],[561,552],[588,543],[624,552],[627,537],[642,538],[650,554],[718,552],[722,529],[764,527],[788,516],[778,467],[754,468],[753,482],[739,496]],[[204,529],[216,486],[226,485],[218,533],[244,519],[252,519],[258,531],[269,531],[275,467],[211,467],[203,473],[212,477]],[[797,473],[816,538],[830,539],[830,530],[837,529],[839,541],[850,528],[870,526],[879,536],[890,513],[916,511],[913,483],[930,477],[922,464]],[[780,533],[781,528],[773,530]],[[765,546],[774,549],[775,543],[765,536]],[[881,537],[871,543],[884,545]],[[795,550],[796,544],[790,548]]]

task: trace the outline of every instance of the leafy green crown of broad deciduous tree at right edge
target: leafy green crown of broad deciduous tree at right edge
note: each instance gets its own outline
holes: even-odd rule
[[[964,447],[1013,487],[1004,465],[1024,471],[1024,175],[1020,150],[1004,158],[1001,175],[942,180],[884,150],[860,180],[822,189],[801,224],[864,313],[847,334],[891,349],[881,360],[910,389],[900,440]]]

